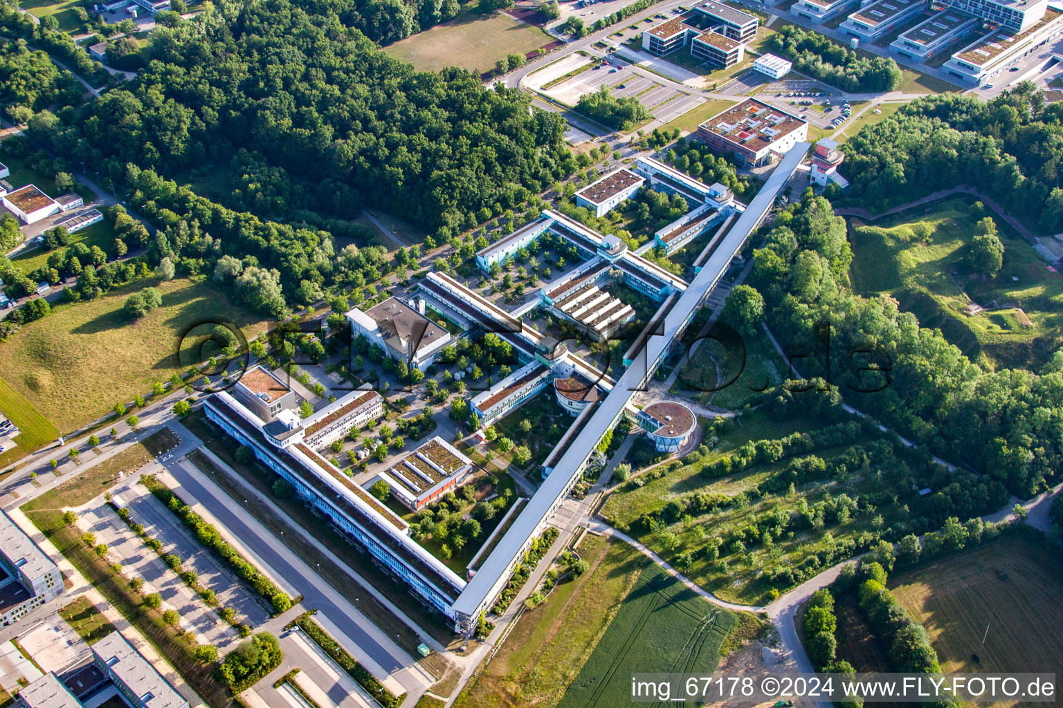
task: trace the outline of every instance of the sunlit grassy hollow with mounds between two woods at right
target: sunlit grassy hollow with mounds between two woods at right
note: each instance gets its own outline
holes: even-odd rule
[[[972,274],[964,259],[977,221],[960,198],[874,226],[853,218],[854,290],[893,295],[979,363],[1037,368],[1059,341],[1063,274],[996,218],[1003,266],[995,278]],[[968,314],[972,303],[984,311]]]

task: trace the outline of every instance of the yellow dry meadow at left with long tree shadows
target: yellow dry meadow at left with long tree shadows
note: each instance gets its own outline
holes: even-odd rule
[[[158,287],[163,306],[131,324],[122,306],[146,286]],[[179,360],[179,334],[214,318],[231,321],[250,336],[267,326],[203,282],[140,280],[96,300],[58,305],[52,314],[26,325],[0,343],[0,370],[14,393],[60,431],[70,431],[182,372],[182,364],[192,362]],[[14,409],[16,424],[17,416],[32,415],[17,398],[2,396],[0,402],[7,415]]]

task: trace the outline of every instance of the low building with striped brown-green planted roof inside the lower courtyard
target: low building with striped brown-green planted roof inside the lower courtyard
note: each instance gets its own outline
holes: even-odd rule
[[[436,435],[377,477],[416,512],[460,485],[471,470],[472,460]]]

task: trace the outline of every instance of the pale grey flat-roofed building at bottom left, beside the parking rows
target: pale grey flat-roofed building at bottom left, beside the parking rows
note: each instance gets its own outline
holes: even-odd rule
[[[133,708],[187,708],[188,700],[120,632],[92,644],[96,666]]]

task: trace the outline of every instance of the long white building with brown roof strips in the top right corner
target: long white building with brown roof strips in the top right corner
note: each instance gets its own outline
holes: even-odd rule
[[[1045,7],[1040,21],[1020,31],[1007,25],[994,30],[952,54],[942,69],[969,84],[984,82],[1014,59],[1063,34],[1063,10]]]

